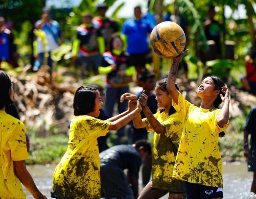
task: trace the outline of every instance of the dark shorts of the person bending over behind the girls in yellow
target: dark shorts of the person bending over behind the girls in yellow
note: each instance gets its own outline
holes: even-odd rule
[[[132,186],[120,168],[101,165],[100,181],[102,197],[134,198]]]

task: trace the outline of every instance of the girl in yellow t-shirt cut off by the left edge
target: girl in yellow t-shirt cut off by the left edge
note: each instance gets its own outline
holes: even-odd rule
[[[0,85],[0,198],[26,199],[22,183],[35,199],[46,199],[26,169],[26,127],[5,111],[13,103],[13,85],[4,71],[0,71]]]

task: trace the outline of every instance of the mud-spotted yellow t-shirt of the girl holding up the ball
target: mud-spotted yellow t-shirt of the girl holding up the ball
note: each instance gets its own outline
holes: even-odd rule
[[[179,93],[173,106],[184,121],[184,129],[174,165],[173,178],[189,183],[223,187],[222,161],[219,152],[221,128],[217,117],[221,109],[206,110],[188,102]]]

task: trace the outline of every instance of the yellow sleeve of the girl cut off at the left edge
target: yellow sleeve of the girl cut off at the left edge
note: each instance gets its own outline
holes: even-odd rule
[[[22,161],[28,159],[26,145],[26,127],[19,121],[13,131],[13,137],[9,141],[11,149],[11,159],[13,161]]]

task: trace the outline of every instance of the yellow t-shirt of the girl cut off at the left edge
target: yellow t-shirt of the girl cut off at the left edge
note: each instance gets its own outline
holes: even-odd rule
[[[26,198],[13,161],[28,159],[26,128],[22,121],[0,111],[0,198]]]

